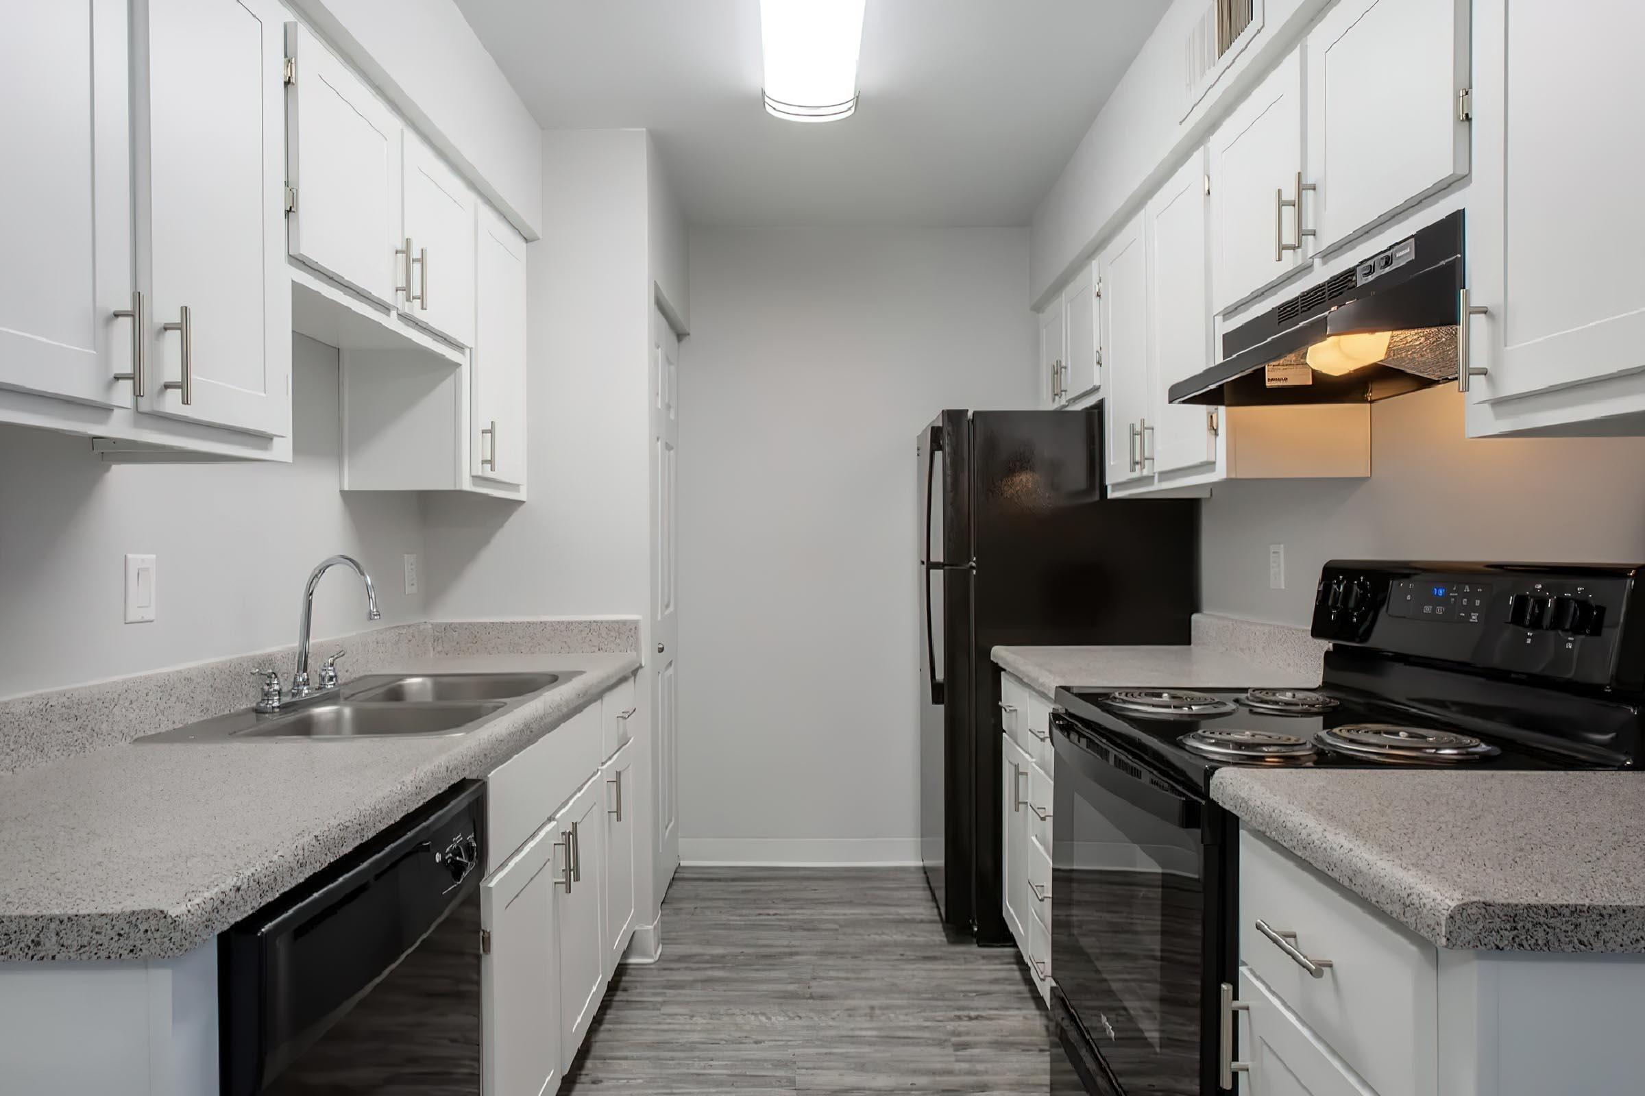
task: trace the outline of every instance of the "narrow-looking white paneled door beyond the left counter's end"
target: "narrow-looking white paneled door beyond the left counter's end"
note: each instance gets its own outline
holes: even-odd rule
[[[656,900],[679,868],[679,639],[678,521],[679,483],[679,338],[661,309],[651,312],[651,749],[656,774]]]

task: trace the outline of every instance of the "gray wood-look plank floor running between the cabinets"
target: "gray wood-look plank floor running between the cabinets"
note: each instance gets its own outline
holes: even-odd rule
[[[949,942],[918,868],[683,868],[559,1091],[1043,1096],[1048,1047],[1017,951]]]

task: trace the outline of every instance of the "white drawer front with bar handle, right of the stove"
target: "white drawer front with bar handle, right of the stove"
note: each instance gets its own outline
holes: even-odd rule
[[[1249,830],[1239,877],[1240,961],[1379,1093],[1436,1096],[1438,950]]]

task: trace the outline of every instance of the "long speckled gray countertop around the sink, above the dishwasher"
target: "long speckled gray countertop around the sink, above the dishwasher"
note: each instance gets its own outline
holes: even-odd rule
[[[0,960],[183,955],[638,665],[408,659],[393,669],[582,674],[461,736],[123,744],[0,777]]]

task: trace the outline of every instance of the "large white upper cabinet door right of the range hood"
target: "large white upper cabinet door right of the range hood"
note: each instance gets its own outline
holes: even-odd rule
[[[1471,434],[1512,414],[1479,404],[1645,366],[1642,36],[1645,5],[1474,7]]]

